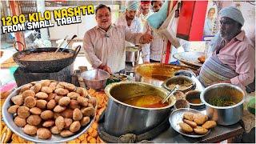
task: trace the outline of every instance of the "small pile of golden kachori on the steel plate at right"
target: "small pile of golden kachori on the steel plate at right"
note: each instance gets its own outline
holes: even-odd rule
[[[194,114],[185,112],[183,114],[183,122],[179,123],[182,131],[190,134],[194,131],[196,134],[206,134],[209,129],[217,126],[215,121],[208,121],[205,114]]]

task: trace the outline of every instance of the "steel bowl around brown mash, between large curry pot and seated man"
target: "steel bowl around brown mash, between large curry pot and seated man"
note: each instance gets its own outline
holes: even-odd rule
[[[173,83],[178,84],[179,81],[188,81],[188,82],[191,82],[191,85],[187,86],[185,89],[178,89],[178,91],[182,91],[183,93],[186,93],[189,90],[195,89],[195,82],[192,80],[192,78],[184,75],[178,75],[178,76],[174,76],[172,78],[166,79],[166,81],[162,83],[162,87],[170,91],[171,89],[169,85]]]

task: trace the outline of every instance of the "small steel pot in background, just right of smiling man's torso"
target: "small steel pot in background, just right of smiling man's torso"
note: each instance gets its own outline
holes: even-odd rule
[[[137,46],[126,46],[126,62],[138,62],[139,50]]]

